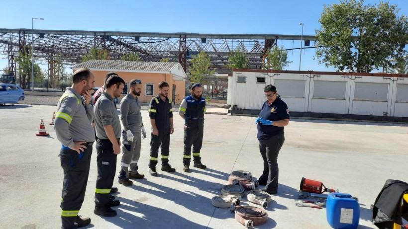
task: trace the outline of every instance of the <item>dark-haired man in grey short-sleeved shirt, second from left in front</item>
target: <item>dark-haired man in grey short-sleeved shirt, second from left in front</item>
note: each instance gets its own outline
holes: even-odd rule
[[[105,91],[94,107],[98,137],[96,145],[98,177],[94,213],[107,217],[116,216],[116,211],[110,207],[120,204],[109,192],[115,176],[116,156],[120,153],[120,121],[114,98],[122,93],[124,83],[117,75],[109,76]]]

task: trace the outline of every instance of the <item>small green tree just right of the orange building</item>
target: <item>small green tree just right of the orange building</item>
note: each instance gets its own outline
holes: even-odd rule
[[[191,64],[192,66],[189,67],[189,72],[191,73],[190,81],[200,84],[208,83],[209,77],[215,72],[214,69],[211,69],[210,58],[204,52],[200,52],[191,60]]]

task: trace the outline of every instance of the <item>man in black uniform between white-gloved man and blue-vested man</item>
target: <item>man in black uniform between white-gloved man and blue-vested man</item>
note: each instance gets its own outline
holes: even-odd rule
[[[162,154],[162,171],[175,172],[169,164],[170,135],[174,132],[172,101],[169,95],[169,84],[159,83],[159,94],[150,100],[149,117],[152,124],[150,141],[150,175],[157,176],[156,165],[159,147]]]

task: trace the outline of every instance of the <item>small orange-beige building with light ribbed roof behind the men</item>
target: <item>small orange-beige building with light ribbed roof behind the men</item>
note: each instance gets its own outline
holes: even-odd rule
[[[142,93],[138,98],[141,102],[150,100],[159,93],[159,82],[169,83],[169,98],[174,104],[180,104],[185,97],[186,73],[180,63],[160,63],[160,62],[133,62],[133,61],[107,61],[91,60],[80,63],[72,67],[89,68],[95,75],[95,86],[103,85],[104,77],[109,72],[115,72],[125,81],[120,99],[129,92],[128,83],[132,79],[142,80]]]

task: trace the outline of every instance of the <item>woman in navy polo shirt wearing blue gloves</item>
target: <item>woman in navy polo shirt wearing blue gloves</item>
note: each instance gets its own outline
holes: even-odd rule
[[[258,126],[259,151],[264,159],[264,170],[259,184],[269,194],[278,192],[278,154],[285,142],[284,128],[289,124],[289,109],[274,85],[264,88],[266,101],[255,123]]]

